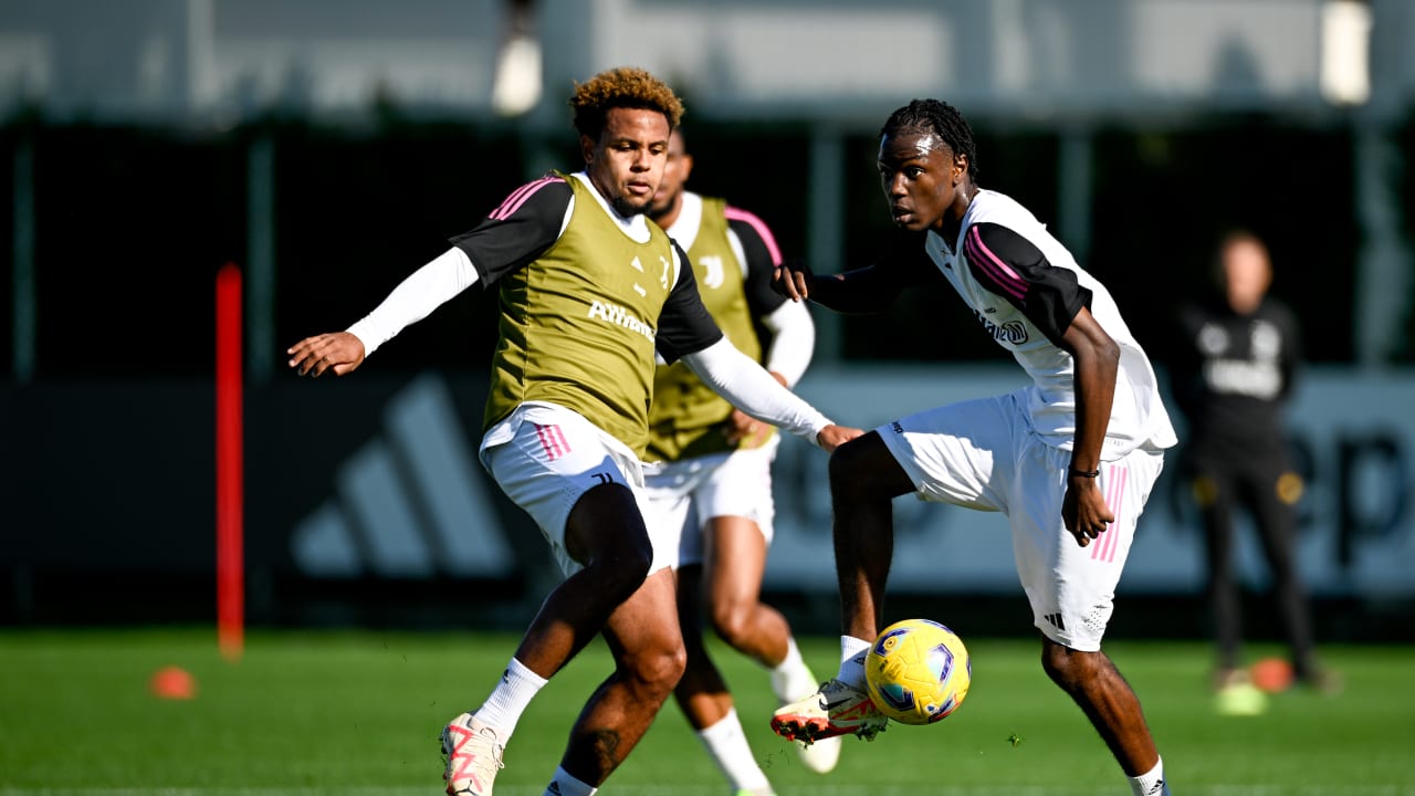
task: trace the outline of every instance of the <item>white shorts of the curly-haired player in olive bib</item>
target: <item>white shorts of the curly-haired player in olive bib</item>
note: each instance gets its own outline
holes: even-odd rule
[[[570,510],[590,489],[604,483],[627,486],[647,516],[644,463],[618,439],[579,412],[553,404],[522,404],[487,429],[481,463],[516,506],[541,527],[550,554],[566,578],[583,567],[565,550]],[[649,528],[654,562],[649,574],[674,564],[678,534]]]

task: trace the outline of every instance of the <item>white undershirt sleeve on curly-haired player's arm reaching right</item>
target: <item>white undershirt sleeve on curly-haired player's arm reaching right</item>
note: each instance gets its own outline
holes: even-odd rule
[[[698,378],[743,412],[816,442],[829,418],[795,392],[781,387],[761,365],[723,337],[702,351],[683,356]]]

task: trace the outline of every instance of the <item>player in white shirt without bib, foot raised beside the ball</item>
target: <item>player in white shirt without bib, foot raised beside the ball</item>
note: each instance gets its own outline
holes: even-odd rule
[[[883,626],[890,500],[1000,511],[1041,632],[1041,666],[1085,712],[1138,795],[1169,793],[1140,703],[1101,637],[1174,431],[1145,351],[1109,292],[1020,204],[976,181],[972,132],[948,103],[914,101],[880,130],[879,174],[899,239],[831,276],[780,269],[777,288],[842,312],[879,312],[945,279],[1032,377],[1027,388],[928,409],[831,456],[842,663],[773,728],[794,739],[873,737],[863,657]]]

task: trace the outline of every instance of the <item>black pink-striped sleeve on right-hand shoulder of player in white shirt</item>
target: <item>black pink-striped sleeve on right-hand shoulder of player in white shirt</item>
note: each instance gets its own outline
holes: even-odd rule
[[[974,279],[1007,299],[1056,344],[1075,313],[1091,306],[1091,289],[1077,282],[1074,271],[1051,265],[1032,241],[1006,227],[969,227],[964,256]]]

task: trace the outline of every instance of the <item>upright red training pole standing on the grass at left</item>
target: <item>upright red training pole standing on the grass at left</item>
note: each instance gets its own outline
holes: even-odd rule
[[[241,269],[216,272],[216,644],[228,660],[245,647],[243,411]]]

